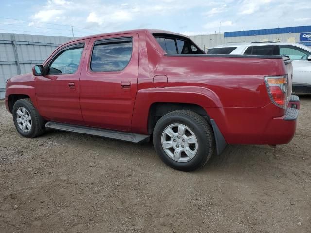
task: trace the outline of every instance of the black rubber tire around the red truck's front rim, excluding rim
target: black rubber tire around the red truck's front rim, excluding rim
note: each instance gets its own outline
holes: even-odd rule
[[[31,116],[31,127],[28,132],[24,132],[20,129],[17,123],[17,109],[20,107],[24,107]],[[22,136],[34,138],[44,133],[44,119],[39,115],[30,99],[17,100],[12,109],[12,116],[15,128]]]

